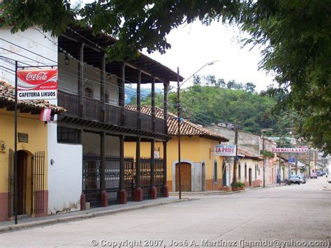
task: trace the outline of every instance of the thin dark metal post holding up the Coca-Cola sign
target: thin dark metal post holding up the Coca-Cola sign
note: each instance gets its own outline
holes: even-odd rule
[[[17,224],[17,60],[15,61],[15,119],[14,119],[14,212]]]

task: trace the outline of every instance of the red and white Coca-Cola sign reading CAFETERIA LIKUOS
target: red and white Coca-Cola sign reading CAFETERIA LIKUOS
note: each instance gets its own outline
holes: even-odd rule
[[[17,71],[18,100],[57,99],[57,69]]]

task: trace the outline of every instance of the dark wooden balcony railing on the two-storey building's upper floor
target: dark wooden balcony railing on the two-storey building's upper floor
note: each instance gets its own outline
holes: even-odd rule
[[[69,94],[66,92],[58,92],[58,105],[66,108],[67,112],[61,115],[67,117],[75,117],[86,119],[88,121],[112,124],[114,126],[122,126],[127,129],[137,129],[151,133],[159,133],[166,135],[165,120],[154,118],[155,131],[153,130],[153,117],[140,113],[140,121],[138,112],[132,110],[124,110],[117,105],[105,104],[105,116],[103,118],[102,102],[97,99],[89,99],[84,97],[83,105],[80,106],[78,95]],[[122,119],[123,118],[123,119]],[[141,126],[140,126],[141,123]]]

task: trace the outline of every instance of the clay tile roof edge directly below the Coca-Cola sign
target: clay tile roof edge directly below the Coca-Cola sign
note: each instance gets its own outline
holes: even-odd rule
[[[12,85],[9,85],[6,82],[0,81],[0,103],[2,105],[8,106],[13,105],[15,102],[15,89]],[[31,109],[31,110],[43,110],[45,108],[50,108],[52,112],[65,112],[66,109],[59,107],[57,105],[52,105],[44,100],[18,100],[17,107],[19,109]]]

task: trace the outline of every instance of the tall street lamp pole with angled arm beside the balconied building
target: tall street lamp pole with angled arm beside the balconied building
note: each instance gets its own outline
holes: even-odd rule
[[[179,90],[180,87],[182,87],[182,85],[184,85],[185,82],[187,82],[190,78],[193,77],[193,75],[196,75],[196,73],[198,73],[199,71],[201,71],[203,68],[205,68],[205,66],[211,66],[214,63],[216,63],[218,60],[209,62],[204,64],[200,69],[198,69],[198,71],[196,71],[195,73],[193,73],[192,75],[189,76],[189,78],[187,78],[184,82],[182,82],[181,85],[179,85],[179,67],[177,67],[177,124],[178,124],[178,180],[179,180],[179,199],[182,199],[182,178],[181,178],[181,170],[180,170],[180,166],[181,166],[181,161],[180,161],[180,123],[181,123],[181,117],[180,117],[180,100],[179,100]]]

